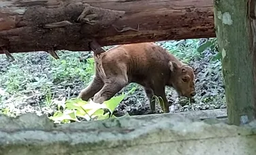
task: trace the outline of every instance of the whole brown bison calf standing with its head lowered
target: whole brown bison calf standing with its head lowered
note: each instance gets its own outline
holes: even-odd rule
[[[165,85],[176,89],[178,95],[195,95],[193,69],[155,43],[119,45],[101,53],[95,62],[95,78],[78,95],[84,101],[93,97],[93,102],[103,103],[129,83],[138,83],[144,87],[153,112],[153,95],[162,97],[162,110],[170,112]]]

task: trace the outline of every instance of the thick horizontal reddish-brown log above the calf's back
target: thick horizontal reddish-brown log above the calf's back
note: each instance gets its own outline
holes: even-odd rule
[[[86,51],[91,39],[103,46],[214,37],[212,5],[212,0],[1,0],[0,47],[10,53]]]

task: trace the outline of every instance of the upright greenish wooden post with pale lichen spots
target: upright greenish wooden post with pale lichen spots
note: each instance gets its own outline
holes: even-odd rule
[[[255,118],[255,0],[214,1],[215,30],[222,52],[229,123]],[[254,19],[252,19],[254,18]]]

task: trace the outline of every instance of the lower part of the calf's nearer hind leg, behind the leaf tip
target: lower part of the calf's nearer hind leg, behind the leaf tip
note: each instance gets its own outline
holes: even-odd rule
[[[102,104],[104,101],[111,99],[118,91],[127,85],[127,78],[125,77],[112,77],[105,82],[102,89],[97,92],[93,97],[93,102]]]

